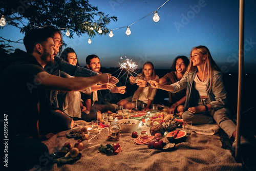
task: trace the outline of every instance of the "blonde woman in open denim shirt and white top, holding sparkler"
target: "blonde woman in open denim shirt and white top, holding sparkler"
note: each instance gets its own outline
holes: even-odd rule
[[[198,46],[191,50],[189,66],[180,81],[171,85],[159,84],[156,81],[149,82],[154,88],[172,93],[187,88],[183,120],[189,120],[195,124],[216,122],[230,138],[236,138],[236,125],[229,118],[227,91],[222,76],[208,48]],[[242,143],[246,141],[241,139]]]

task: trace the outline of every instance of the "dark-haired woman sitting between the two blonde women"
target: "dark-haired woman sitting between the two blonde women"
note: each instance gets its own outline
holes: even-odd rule
[[[177,56],[173,61],[172,67],[170,67],[170,69],[173,71],[165,74],[162,78],[159,79],[158,82],[160,84],[170,85],[181,80],[188,64],[189,60],[186,56]],[[183,112],[183,104],[186,100],[186,89],[183,89],[177,93],[170,93],[168,91],[168,96],[170,109],[167,111],[167,113],[173,114],[175,111],[178,113]]]

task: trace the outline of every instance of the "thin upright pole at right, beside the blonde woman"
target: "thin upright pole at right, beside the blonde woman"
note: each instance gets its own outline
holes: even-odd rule
[[[241,124],[241,99],[242,99],[242,82],[243,82],[243,65],[244,65],[244,0],[240,0],[239,10],[239,64],[238,64],[238,109],[237,109],[237,144],[236,159],[240,160],[240,124]]]

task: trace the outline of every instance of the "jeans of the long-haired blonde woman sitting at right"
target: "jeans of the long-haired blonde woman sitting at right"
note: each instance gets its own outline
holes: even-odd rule
[[[208,104],[208,99],[200,99],[198,106]],[[237,126],[234,122],[229,118],[229,109],[221,108],[217,111],[209,110],[199,113],[191,113],[189,111],[185,111],[182,114],[183,120],[190,120],[193,124],[212,124],[216,122],[221,129],[228,135],[228,137],[232,137],[233,132],[236,131]]]

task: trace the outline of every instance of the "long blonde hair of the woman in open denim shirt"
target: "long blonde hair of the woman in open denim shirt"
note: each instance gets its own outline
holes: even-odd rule
[[[204,62],[204,69],[203,72],[205,73],[205,69],[207,68],[207,78],[208,78],[208,84],[206,86],[206,91],[209,92],[211,90],[212,84],[213,84],[213,71],[220,71],[219,67],[216,65],[216,62],[214,59],[212,59],[210,51],[207,47],[205,46],[197,46],[194,47],[191,52],[190,52],[190,62],[187,67],[187,71],[185,74],[195,72],[197,70],[196,66],[193,66],[193,62],[191,61],[191,56],[192,56],[192,51],[197,50],[199,53],[202,55],[207,55],[207,58]]]

